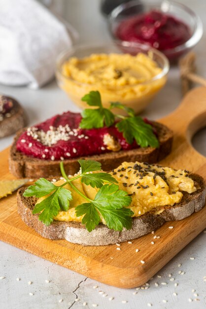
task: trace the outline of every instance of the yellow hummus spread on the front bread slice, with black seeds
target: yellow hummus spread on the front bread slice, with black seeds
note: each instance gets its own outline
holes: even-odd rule
[[[134,212],[134,217],[139,217],[149,211],[159,214],[165,206],[173,206],[179,203],[183,196],[182,191],[193,193],[199,189],[195,187],[188,171],[174,170],[156,164],[123,162],[110,174],[118,181],[119,189],[126,191],[132,197],[132,202],[128,208]],[[69,178],[72,177],[69,176]],[[60,186],[64,182],[65,180],[62,179],[55,182],[55,185]],[[73,184],[90,199],[94,199],[99,190],[81,183],[80,178],[74,180]],[[70,201],[69,210],[60,211],[54,219],[81,222],[82,216],[76,217],[75,207],[87,202],[87,200],[76,193],[69,184],[64,188],[71,191],[73,199]],[[45,196],[40,198],[38,202],[43,198]],[[105,224],[102,217],[101,219]]]

